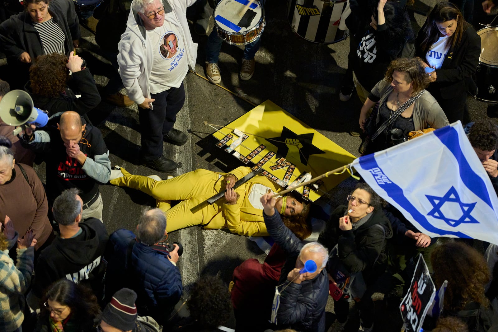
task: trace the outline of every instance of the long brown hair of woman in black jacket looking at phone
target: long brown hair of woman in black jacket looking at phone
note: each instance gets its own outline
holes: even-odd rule
[[[440,2],[434,6],[429,16],[427,16],[427,19],[419,32],[419,35],[424,37],[422,43],[419,45],[423,54],[427,53],[432,44],[439,39],[440,32],[436,23],[443,23],[451,21],[452,19],[457,20],[457,29],[453,35],[448,38],[446,45],[451,43],[452,49],[460,46],[462,35],[470,24],[465,21],[462,12],[460,12],[460,9],[458,9],[456,5],[451,2]]]

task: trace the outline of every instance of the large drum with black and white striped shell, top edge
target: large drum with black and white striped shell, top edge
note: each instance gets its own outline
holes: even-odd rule
[[[347,0],[289,0],[287,14],[295,33],[306,40],[332,44],[345,39],[348,30],[339,29]]]

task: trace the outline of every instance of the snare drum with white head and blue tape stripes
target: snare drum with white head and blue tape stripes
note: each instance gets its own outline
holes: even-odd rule
[[[264,8],[258,0],[222,0],[214,10],[218,36],[229,44],[247,45],[263,32]]]

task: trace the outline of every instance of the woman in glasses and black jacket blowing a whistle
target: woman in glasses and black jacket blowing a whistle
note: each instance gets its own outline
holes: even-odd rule
[[[334,299],[339,323],[337,331],[344,331],[348,322],[348,301],[354,298],[363,331],[368,332],[373,330],[374,317],[373,290],[369,290],[369,286],[385,271],[386,239],[392,236],[392,229],[382,212],[381,198],[368,184],[358,183],[347,202],[348,205],[340,205],[332,213],[318,241],[331,249],[327,264],[329,280],[335,285],[331,287],[357,290],[349,299],[344,296],[338,301]],[[334,250],[338,254],[332,254]],[[352,276],[355,279],[350,283],[352,279],[348,277]]]

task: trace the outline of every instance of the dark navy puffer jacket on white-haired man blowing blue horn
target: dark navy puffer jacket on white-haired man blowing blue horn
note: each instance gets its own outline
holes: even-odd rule
[[[301,332],[325,331],[325,306],[329,297],[329,279],[327,271],[323,269],[314,279],[306,280],[300,284],[287,280],[288,273],[295,268],[296,259],[305,243],[287,228],[275,209],[273,216],[263,212],[264,223],[268,233],[275,243],[288,255],[282,272],[279,285],[288,285],[280,292],[280,307],[277,312],[277,327]],[[280,286],[281,290],[284,286]]]

